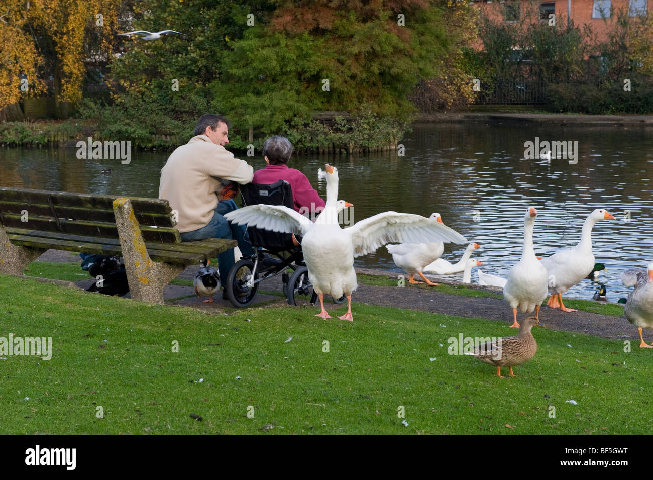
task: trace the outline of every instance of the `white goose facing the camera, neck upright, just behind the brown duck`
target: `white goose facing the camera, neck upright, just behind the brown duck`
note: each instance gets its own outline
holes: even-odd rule
[[[535,317],[539,323],[539,306],[547,298],[547,269],[535,257],[533,248],[533,227],[537,210],[527,208],[524,215],[524,249],[520,261],[513,265],[508,280],[503,287],[503,298],[513,308],[515,321],[511,327],[519,328],[517,308],[522,313],[536,310]]]

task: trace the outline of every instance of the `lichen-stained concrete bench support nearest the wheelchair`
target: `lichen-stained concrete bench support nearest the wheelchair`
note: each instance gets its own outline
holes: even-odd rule
[[[183,266],[153,262],[138,229],[129,199],[113,202],[131,298],[163,304],[163,289],[183,272]]]

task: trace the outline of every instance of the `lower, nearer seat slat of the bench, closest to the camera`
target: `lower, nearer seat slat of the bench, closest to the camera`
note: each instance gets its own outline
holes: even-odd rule
[[[54,248],[57,250],[80,251],[82,253],[98,253],[100,255],[121,255],[121,248],[117,245],[91,244],[72,242],[71,240],[57,240],[56,238],[44,238],[42,236],[27,236],[18,234],[7,234],[7,238],[14,245],[31,248]],[[189,265],[199,263],[209,255],[201,253],[182,253],[178,251],[165,251],[149,249],[148,255],[155,262],[165,262]],[[214,255],[210,255],[211,257]]]

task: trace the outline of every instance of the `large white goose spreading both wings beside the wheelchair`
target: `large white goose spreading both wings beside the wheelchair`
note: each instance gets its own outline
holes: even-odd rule
[[[352,227],[340,228],[327,223],[325,212],[335,212],[338,195],[338,170],[326,165],[327,207],[315,223],[292,208],[274,205],[251,205],[233,210],[225,218],[243,225],[274,232],[288,232],[304,236],[302,251],[308,266],[308,278],[319,295],[321,312],[318,317],[330,318],[324,308],[324,296],[340,298],[347,295],[347,313],[339,317],[353,321],[351,293],[358,286],[354,257],[374,252],[389,242],[466,242],[466,238],[437,221],[413,214],[383,212],[358,221]],[[323,217],[325,218],[322,223]]]

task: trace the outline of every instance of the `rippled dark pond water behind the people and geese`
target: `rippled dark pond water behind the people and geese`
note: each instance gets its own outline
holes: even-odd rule
[[[601,281],[608,298],[627,296],[619,274],[653,261],[653,131],[645,127],[557,126],[468,122],[414,125],[397,152],[364,155],[293,155],[290,166],[302,170],[326,197],[317,169],[338,167],[340,199],[354,204],[353,221],[395,210],[441,214],[449,225],[481,244],[473,258],[483,272],[507,276],[522,251],[527,206],[539,214],[535,252],[541,257],[579,242],[584,219],[605,208],[615,220],[594,227],[594,255],[609,272]],[[578,142],[578,162],[524,159],[524,142]],[[1,149],[0,185],[44,190],[156,197],[159,170],[169,152],[133,152],[131,163],[77,159],[76,149]],[[255,169],[260,157],[244,157]],[[109,175],[102,170],[111,168]],[[465,246],[445,244],[443,258],[455,263]],[[385,247],[357,259],[357,266],[400,272]],[[445,276],[460,280],[462,274]],[[477,274],[472,273],[472,281]],[[565,296],[591,298],[589,280]]]

